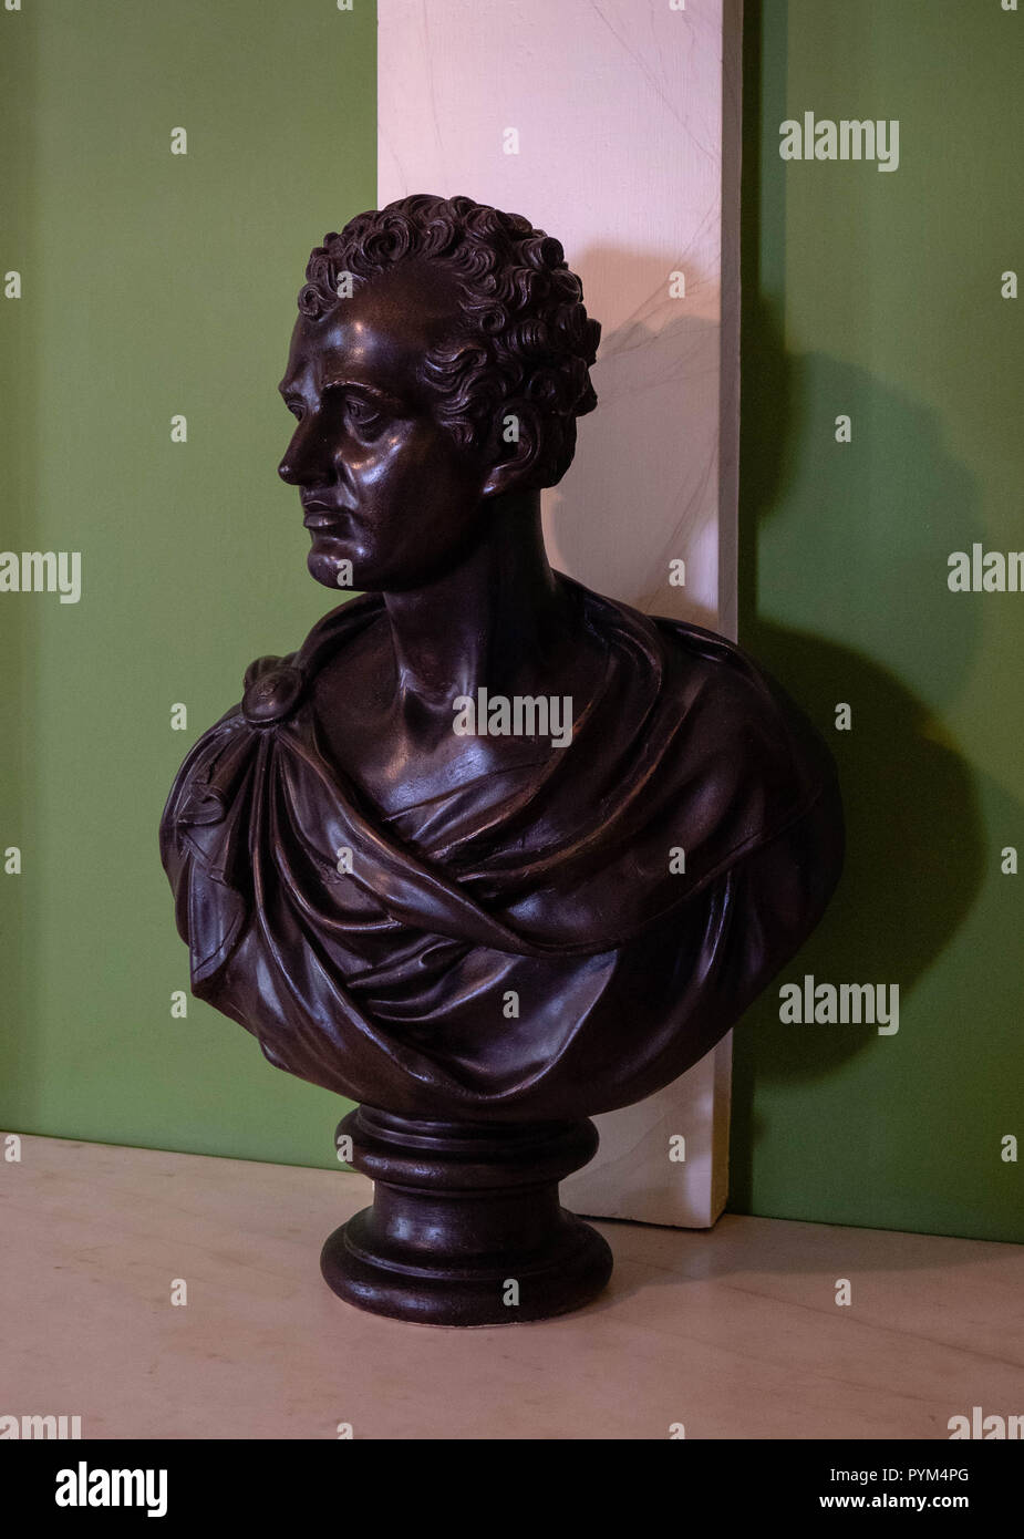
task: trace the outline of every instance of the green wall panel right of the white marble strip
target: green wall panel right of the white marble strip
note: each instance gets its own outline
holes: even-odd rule
[[[1024,14],[999,0],[748,5],[741,640],[836,753],[848,870],[782,977],[901,990],[896,1036],[736,1034],[730,1205],[1024,1239]],[[901,165],[784,162],[779,125],[898,119]],[[836,443],[835,419],[853,439]],[[853,728],[836,731],[847,702]]]

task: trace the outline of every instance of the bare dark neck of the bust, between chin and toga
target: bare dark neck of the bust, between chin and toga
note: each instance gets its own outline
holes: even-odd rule
[[[548,565],[540,494],[496,497],[482,537],[453,571],[414,593],[385,594],[399,693],[451,709],[484,686],[530,693],[564,634],[568,599]]]

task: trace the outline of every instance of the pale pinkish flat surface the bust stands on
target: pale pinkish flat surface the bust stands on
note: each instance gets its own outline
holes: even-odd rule
[[[0,1162],[0,1416],[89,1437],[935,1437],[1024,1411],[1024,1248],[727,1214],[599,1224],[608,1293],[442,1330],[319,1274],[342,1171],[25,1137]],[[852,1284],[838,1307],[836,1279]],[[171,1304],[174,1279],[188,1304]]]

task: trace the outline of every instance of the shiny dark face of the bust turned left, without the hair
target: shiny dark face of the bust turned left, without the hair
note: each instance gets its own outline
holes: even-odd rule
[[[310,573],[402,593],[454,566],[482,526],[488,465],[434,417],[422,360],[457,317],[451,280],[408,262],[319,320],[299,315],[279,389],[299,419],[279,465],[310,529]]]

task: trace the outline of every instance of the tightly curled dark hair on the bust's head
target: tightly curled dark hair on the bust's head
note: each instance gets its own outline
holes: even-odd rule
[[[342,272],[368,282],[413,257],[457,280],[459,322],[423,365],[439,420],[457,443],[479,448],[507,402],[531,402],[542,442],[530,485],[554,486],[576,451],[576,417],[597,405],[590,366],[601,340],[561,242],[522,214],[419,192],[325,235],[310,255],[299,309],[316,320],[339,303]]]

